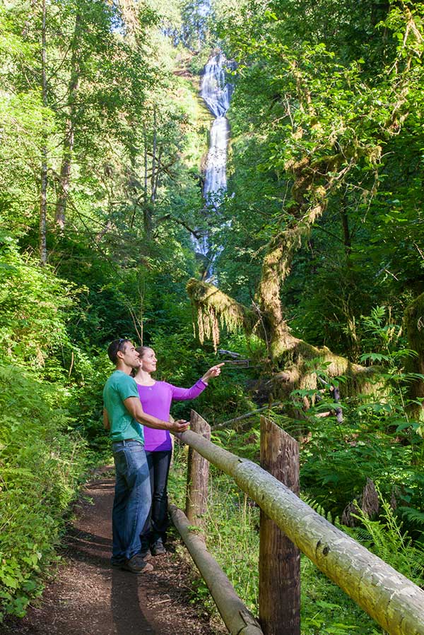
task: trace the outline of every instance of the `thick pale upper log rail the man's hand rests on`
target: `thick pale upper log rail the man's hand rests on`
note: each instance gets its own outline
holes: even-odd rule
[[[424,635],[424,591],[418,586],[319,516],[256,463],[192,430],[178,436],[230,475],[266,516],[385,631],[390,635]]]

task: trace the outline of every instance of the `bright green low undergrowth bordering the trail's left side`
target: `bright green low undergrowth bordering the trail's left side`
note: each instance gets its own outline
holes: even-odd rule
[[[63,518],[86,468],[86,445],[71,430],[66,394],[0,366],[0,619],[22,617],[42,591]]]

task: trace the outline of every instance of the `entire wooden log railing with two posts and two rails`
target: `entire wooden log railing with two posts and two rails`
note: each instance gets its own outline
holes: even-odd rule
[[[259,622],[262,631],[234,590],[225,606],[225,596],[230,593],[230,582],[225,574],[221,572],[226,582],[220,578],[216,585],[213,580],[218,574],[213,570],[210,575],[211,561],[199,566],[230,633],[300,634],[299,549],[390,635],[424,635],[424,591],[319,516],[292,491],[298,488],[298,444],[288,434],[261,417],[261,464],[275,475],[211,443],[205,438],[210,438],[208,424],[194,411],[191,429],[178,436],[189,445],[192,455],[187,476],[189,518],[175,506],[170,509],[195,562],[196,547],[189,543],[196,533],[190,531],[190,526],[202,522],[208,462],[230,475],[261,508]],[[286,485],[281,480],[285,480]],[[203,546],[197,545],[198,552],[207,554],[204,543],[199,542]],[[207,556],[211,558],[210,554]],[[226,589],[218,593],[223,596],[218,599],[217,586]],[[231,620],[234,615],[241,616],[241,622]]]

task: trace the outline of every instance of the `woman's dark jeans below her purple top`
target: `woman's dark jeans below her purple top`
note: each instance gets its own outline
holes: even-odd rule
[[[165,542],[169,524],[167,516],[167,477],[172,450],[146,451],[150,472],[152,506],[141,533],[141,550],[146,551],[159,538]]]

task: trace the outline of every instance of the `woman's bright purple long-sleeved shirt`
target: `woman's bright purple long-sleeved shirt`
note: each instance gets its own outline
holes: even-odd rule
[[[137,384],[141,405],[146,414],[158,417],[163,421],[170,420],[172,400],[185,401],[195,399],[206,388],[204,381],[196,381],[192,388],[179,388],[167,384],[166,381],[155,381],[153,386]],[[167,430],[157,430],[144,426],[144,449],[149,452],[159,452],[172,449],[170,433]]]

